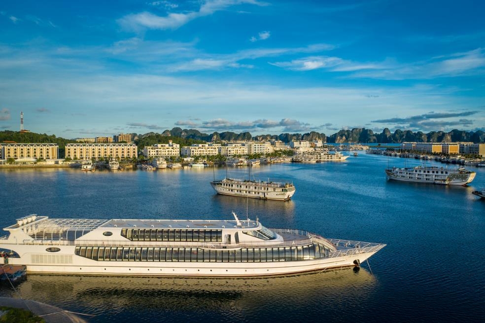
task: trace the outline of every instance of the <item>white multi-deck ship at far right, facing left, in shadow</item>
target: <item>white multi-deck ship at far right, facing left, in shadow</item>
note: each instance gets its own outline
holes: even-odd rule
[[[441,185],[467,185],[475,179],[475,172],[464,168],[449,169],[435,166],[387,168],[387,179]]]

